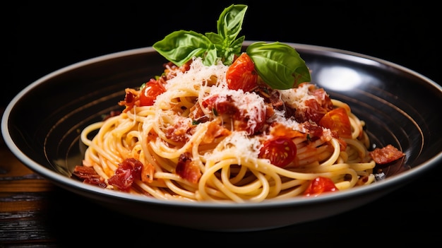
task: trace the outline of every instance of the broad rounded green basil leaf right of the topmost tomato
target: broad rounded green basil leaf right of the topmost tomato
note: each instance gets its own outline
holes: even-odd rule
[[[287,90],[311,81],[309,68],[298,52],[280,42],[254,42],[246,49],[256,72],[271,88]]]

